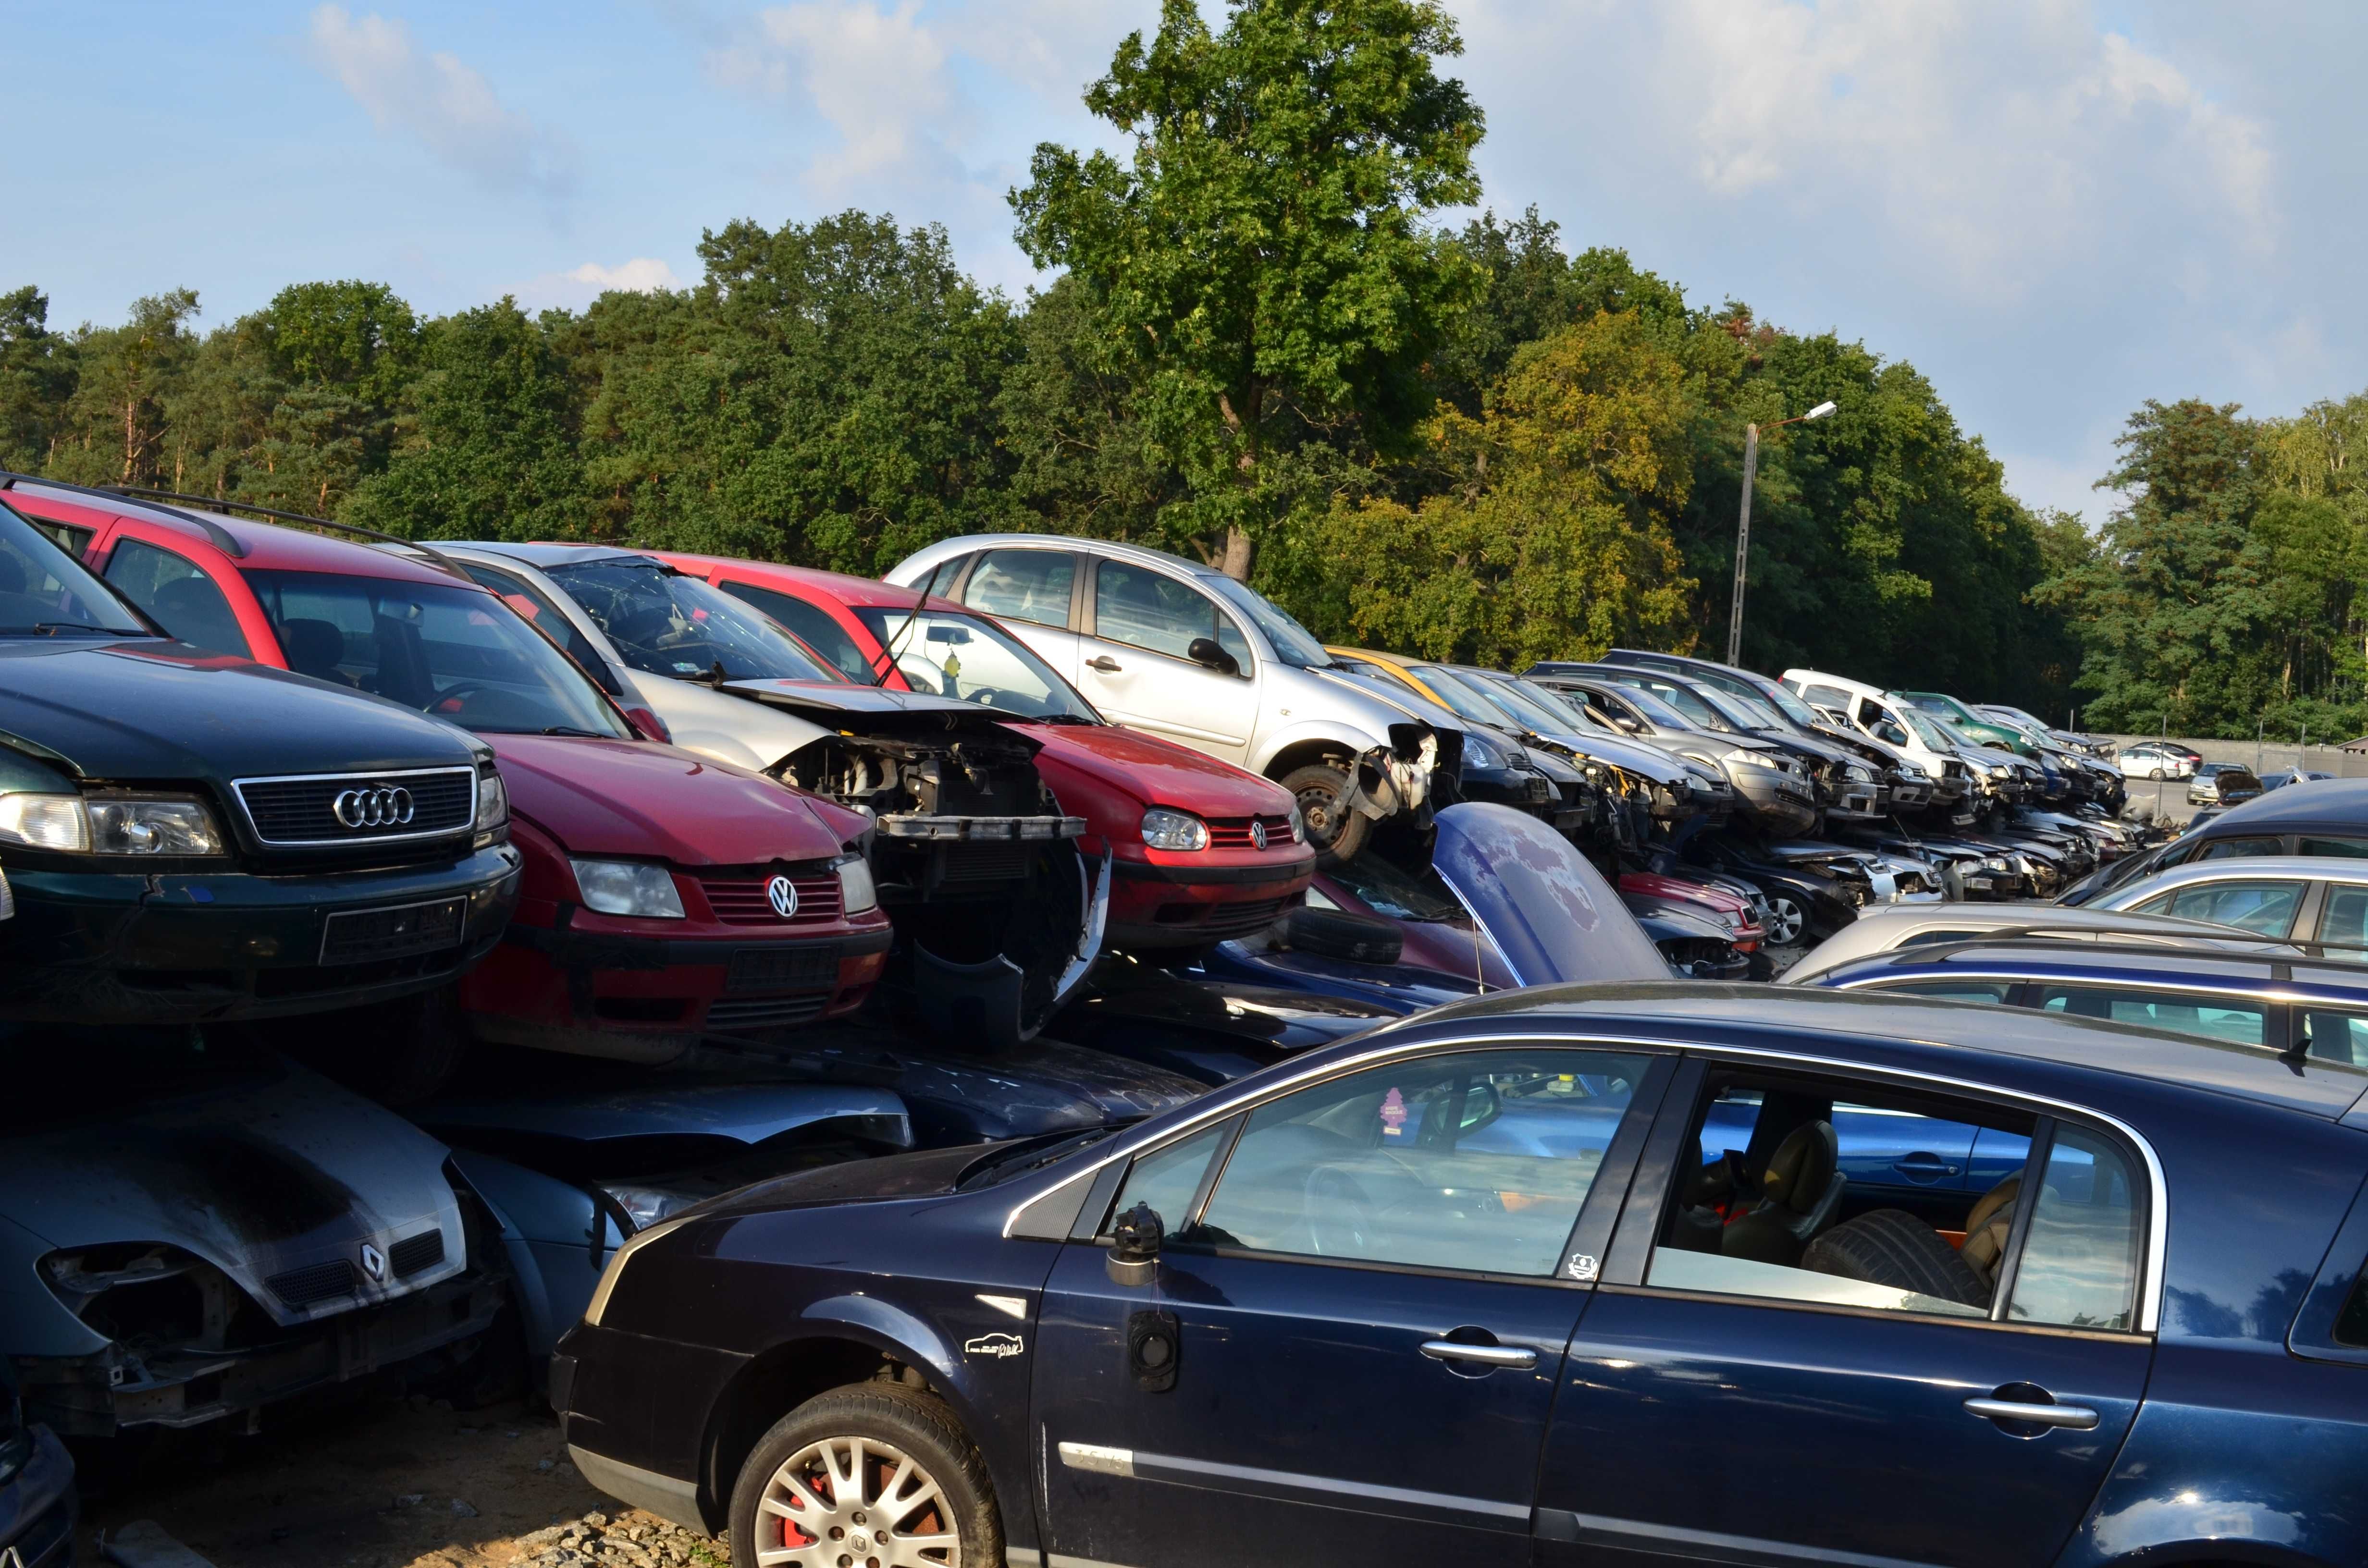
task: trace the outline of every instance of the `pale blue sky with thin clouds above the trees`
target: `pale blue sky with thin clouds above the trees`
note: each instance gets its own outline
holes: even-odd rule
[[[1208,0],[1215,12],[1215,0]],[[2368,386],[2368,7],[1452,0],[1487,201],[1695,301],[1923,367],[2034,505],[2143,398]],[[0,2],[0,287],[206,322],[308,277],[424,310],[699,275],[703,227],[845,206],[1032,279],[1004,189],[1153,0]]]

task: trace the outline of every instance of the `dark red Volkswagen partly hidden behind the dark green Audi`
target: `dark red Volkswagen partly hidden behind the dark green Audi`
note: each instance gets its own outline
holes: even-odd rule
[[[182,642],[374,692],[493,746],[526,855],[504,943],[424,1004],[305,1021],[346,1056],[386,1054],[384,1094],[431,1090],[464,1035],[668,1061],[701,1033],[848,1014],[879,981],[888,917],[852,850],[864,817],[646,739],[431,552],[36,483],[9,500]]]

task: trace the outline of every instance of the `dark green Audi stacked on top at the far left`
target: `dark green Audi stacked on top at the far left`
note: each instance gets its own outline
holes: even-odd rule
[[[9,493],[40,512],[81,500],[36,481]],[[178,597],[215,592],[194,566],[168,576],[149,545],[118,559]],[[493,751],[253,654],[173,642],[0,505],[0,853],[17,907],[0,921],[0,1016],[393,1004],[500,943],[519,853]]]

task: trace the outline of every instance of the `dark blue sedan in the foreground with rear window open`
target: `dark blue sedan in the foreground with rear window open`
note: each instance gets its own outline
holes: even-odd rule
[[[2351,1566],[2363,1092],[2003,1007],[1504,992],[675,1215],[552,1402],[744,1568]]]

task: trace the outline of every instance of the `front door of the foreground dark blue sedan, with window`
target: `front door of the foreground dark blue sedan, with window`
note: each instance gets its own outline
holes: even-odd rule
[[[1139,1156],[1108,1213],[1158,1213],[1156,1281],[1070,1241],[1044,1291],[1051,1561],[1523,1561],[1591,1236],[1667,1075],[1643,1052],[1444,1049]],[[1160,1334],[1158,1367],[1130,1357]]]

